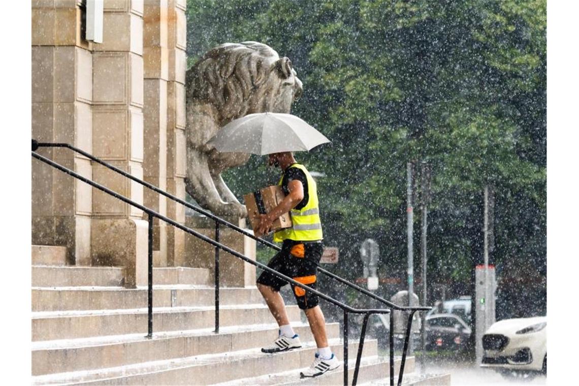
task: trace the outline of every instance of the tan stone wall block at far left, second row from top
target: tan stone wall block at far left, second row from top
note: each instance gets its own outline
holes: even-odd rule
[[[32,102],[54,101],[54,47],[32,47]]]

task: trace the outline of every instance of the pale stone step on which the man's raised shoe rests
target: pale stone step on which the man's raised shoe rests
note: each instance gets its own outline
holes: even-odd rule
[[[306,323],[292,323],[302,342],[312,341]],[[263,347],[276,339],[276,323],[269,325],[230,326],[153,334],[98,337],[74,340],[41,341],[32,344],[32,375],[94,370],[133,365],[161,359],[185,358]],[[327,324],[328,339],[339,337],[339,323]],[[74,360],[71,360],[74,358]]]

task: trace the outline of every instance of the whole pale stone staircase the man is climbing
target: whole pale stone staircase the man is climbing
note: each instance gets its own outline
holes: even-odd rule
[[[33,384],[343,383],[342,367],[299,379],[316,346],[297,306],[288,306],[288,315],[303,347],[279,354],[260,351],[277,336],[277,325],[255,286],[220,289],[220,329],[215,334],[209,271],[155,268],[154,333],[147,339],[147,289],[123,288],[121,267],[67,266],[63,247],[33,246],[32,255]],[[342,359],[340,331],[339,323],[328,323],[329,343]],[[350,380],[357,348],[351,339]],[[378,355],[376,340],[367,340],[358,384],[387,384],[387,361]],[[409,357],[404,384],[450,384],[448,374],[420,377],[413,374],[414,367]]]

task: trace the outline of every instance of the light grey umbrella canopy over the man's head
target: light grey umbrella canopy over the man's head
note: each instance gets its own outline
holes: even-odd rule
[[[330,142],[303,119],[291,114],[256,113],[232,120],[207,145],[219,152],[251,153],[259,156],[307,151]]]

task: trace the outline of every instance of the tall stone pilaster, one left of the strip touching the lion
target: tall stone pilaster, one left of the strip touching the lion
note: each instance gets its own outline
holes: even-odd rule
[[[143,27],[144,162],[146,182],[167,190],[167,13],[166,0],[146,0]],[[145,206],[167,215],[167,198],[145,189]],[[167,266],[167,225],[153,224],[153,264]]]

